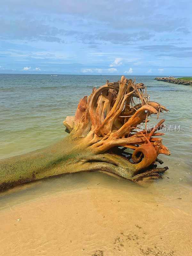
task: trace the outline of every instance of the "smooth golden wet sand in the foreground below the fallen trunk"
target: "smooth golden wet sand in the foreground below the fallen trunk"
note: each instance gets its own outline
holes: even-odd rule
[[[0,255],[190,256],[191,193],[157,182],[87,172],[5,191]]]

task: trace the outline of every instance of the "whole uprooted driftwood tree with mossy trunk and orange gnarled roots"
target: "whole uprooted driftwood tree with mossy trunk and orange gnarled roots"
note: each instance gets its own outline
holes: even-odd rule
[[[132,79],[107,83],[93,88],[90,96],[80,100],[75,116],[63,124],[69,133],[60,142],[33,152],[0,161],[0,188],[38,180],[62,173],[102,170],[129,180],[158,178],[165,168],[148,170],[161,160],[159,154],[170,155],[162,139],[154,136],[164,127],[162,119],[151,129],[139,130],[155,114],[168,111],[149,101],[144,84]],[[122,148],[123,147],[123,148]],[[132,153],[126,152],[127,149]]]

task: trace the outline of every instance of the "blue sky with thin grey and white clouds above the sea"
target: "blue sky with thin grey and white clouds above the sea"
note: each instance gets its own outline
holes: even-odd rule
[[[0,73],[192,76],[191,10],[191,0],[1,0]]]

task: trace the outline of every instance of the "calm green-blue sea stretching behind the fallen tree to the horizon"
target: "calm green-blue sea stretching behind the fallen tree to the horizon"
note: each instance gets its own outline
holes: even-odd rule
[[[127,78],[134,79],[134,76]],[[0,158],[15,156],[48,146],[67,135],[62,124],[75,115],[79,100],[92,88],[120,80],[121,76],[1,74]],[[144,83],[151,101],[171,112],[164,113],[167,131],[163,144],[171,156],[160,157],[174,182],[191,182],[191,106],[192,87],[154,80],[155,76],[136,76]],[[163,118],[161,115],[160,118]],[[160,119],[161,120],[161,119]],[[156,117],[150,123],[156,124]],[[180,131],[174,131],[174,128]],[[182,180],[180,180],[182,179]]]

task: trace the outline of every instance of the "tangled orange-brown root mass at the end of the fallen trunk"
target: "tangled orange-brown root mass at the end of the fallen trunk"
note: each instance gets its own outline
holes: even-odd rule
[[[67,128],[70,126],[68,130],[73,130],[75,136],[84,137],[87,149],[92,152],[95,159],[98,159],[98,162],[102,162],[101,154],[102,156],[110,154],[110,158],[116,163],[116,169],[121,169],[119,175],[134,181],[139,177],[149,176],[150,173],[151,176],[157,177],[159,172],[166,169],[157,168],[156,172],[145,172],[145,168],[154,163],[159,154],[170,155],[170,152],[162,145],[162,139],[156,137],[164,135],[157,131],[165,127],[163,124],[165,120],[162,119],[156,126],[147,129],[149,116],[156,114],[158,119],[160,113],[169,110],[157,102],[149,101],[144,84],[135,84],[132,79],[122,76],[121,81],[114,83],[107,81],[98,90],[94,88],[88,99],[86,103],[85,97],[80,100],[76,112],[76,116],[81,116],[78,122],[75,116],[76,122],[68,123],[67,117],[64,124]],[[144,131],[139,130],[141,123],[145,123]],[[134,150],[123,165],[116,156],[125,158],[119,147]],[[113,148],[116,148],[116,155]],[[124,170],[123,174],[122,170]],[[143,176],[140,172],[143,172]]]

